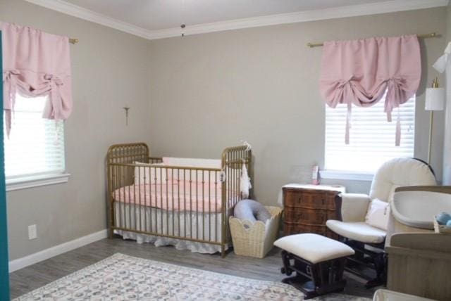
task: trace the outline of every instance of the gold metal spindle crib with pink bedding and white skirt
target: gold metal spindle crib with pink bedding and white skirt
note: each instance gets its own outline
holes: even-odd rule
[[[224,149],[221,160],[154,158],[146,143],[109,148],[109,238],[213,253],[232,245],[228,217],[241,200],[240,177],[250,171],[249,146]],[[181,247],[180,247],[181,245]]]

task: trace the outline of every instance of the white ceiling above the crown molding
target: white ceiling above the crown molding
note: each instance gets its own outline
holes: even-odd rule
[[[146,30],[311,11],[386,0],[66,0]],[[130,2],[133,4],[131,5]]]

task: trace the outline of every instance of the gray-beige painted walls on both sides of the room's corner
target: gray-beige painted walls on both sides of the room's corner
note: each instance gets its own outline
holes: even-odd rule
[[[292,170],[323,165],[321,49],[308,41],[445,32],[442,8],[260,27],[145,41],[23,0],[0,0],[0,20],[80,39],[71,46],[73,115],[66,122],[67,184],[8,193],[11,260],[106,226],[104,157],[113,143],[144,141],[154,155],[219,158],[247,139],[254,146],[255,194],[276,202]],[[426,158],[424,88],[445,39],[421,41],[424,80],[416,112],[416,155]],[[125,127],[122,107],[129,103]],[[441,174],[443,114],[433,165]],[[366,181],[328,181],[368,191]],[[38,238],[27,240],[37,224]]]

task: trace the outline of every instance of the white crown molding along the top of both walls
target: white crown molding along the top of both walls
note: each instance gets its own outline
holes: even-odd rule
[[[180,27],[164,30],[146,30],[129,23],[90,11],[80,6],[75,6],[63,0],[25,0],[32,4],[44,6],[60,13],[66,13],[83,20],[88,20],[107,27],[121,30],[129,34],[135,34],[144,39],[164,39],[168,37],[180,37]],[[199,25],[188,25],[184,33],[204,34],[208,32],[221,32],[226,30],[238,30],[249,27],[261,27],[288,23],[302,23],[316,20],[329,20],[335,18],[356,17],[359,15],[377,15],[380,13],[394,13],[397,11],[414,11],[417,9],[447,6],[450,0],[390,0],[373,4],[357,4],[353,6],[341,6],[314,11],[299,11],[296,13],[282,13],[277,15],[264,15],[256,18],[244,18]]]

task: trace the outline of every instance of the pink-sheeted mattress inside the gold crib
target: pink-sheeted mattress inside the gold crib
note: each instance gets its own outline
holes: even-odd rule
[[[130,185],[116,189],[113,198],[122,203],[163,210],[221,212],[221,184],[168,181],[168,184]]]

